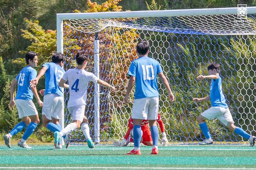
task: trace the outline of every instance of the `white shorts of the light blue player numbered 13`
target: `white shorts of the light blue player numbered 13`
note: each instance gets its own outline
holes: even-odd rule
[[[64,98],[55,93],[44,95],[42,114],[49,120],[52,120],[52,117],[61,119],[61,115],[64,114]]]

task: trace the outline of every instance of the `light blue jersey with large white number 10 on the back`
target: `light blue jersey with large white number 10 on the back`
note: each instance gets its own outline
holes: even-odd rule
[[[163,72],[160,63],[149,57],[140,57],[131,63],[128,75],[135,76],[135,99],[159,97],[157,75]]]

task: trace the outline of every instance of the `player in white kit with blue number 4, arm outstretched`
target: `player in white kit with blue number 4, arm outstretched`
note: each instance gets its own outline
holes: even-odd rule
[[[68,81],[68,111],[72,114],[73,122],[68,124],[61,132],[56,131],[54,133],[54,142],[58,144],[63,135],[66,135],[81,126],[89,148],[93,148],[94,144],[89,134],[88,119],[84,116],[88,84],[89,82],[94,82],[103,87],[108,87],[111,90],[115,90],[115,88],[109,85],[109,83],[97,78],[93,73],[84,70],[88,62],[88,55],[85,52],[78,51],[75,60],[77,62],[77,67],[68,69],[59,83],[60,87],[64,87],[64,83]]]

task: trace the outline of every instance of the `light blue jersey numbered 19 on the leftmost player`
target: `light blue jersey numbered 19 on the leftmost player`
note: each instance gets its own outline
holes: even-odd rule
[[[37,71],[31,66],[23,68],[16,79],[18,80],[18,90],[15,99],[23,99],[31,101],[33,99],[33,92],[29,86],[29,81],[37,77]]]

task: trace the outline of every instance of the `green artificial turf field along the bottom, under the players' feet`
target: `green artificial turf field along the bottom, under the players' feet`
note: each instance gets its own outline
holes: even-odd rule
[[[234,145],[142,146],[142,155],[125,155],[133,147],[70,146],[0,146],[0,169],[251,169],[256,170],[256,147]]]

